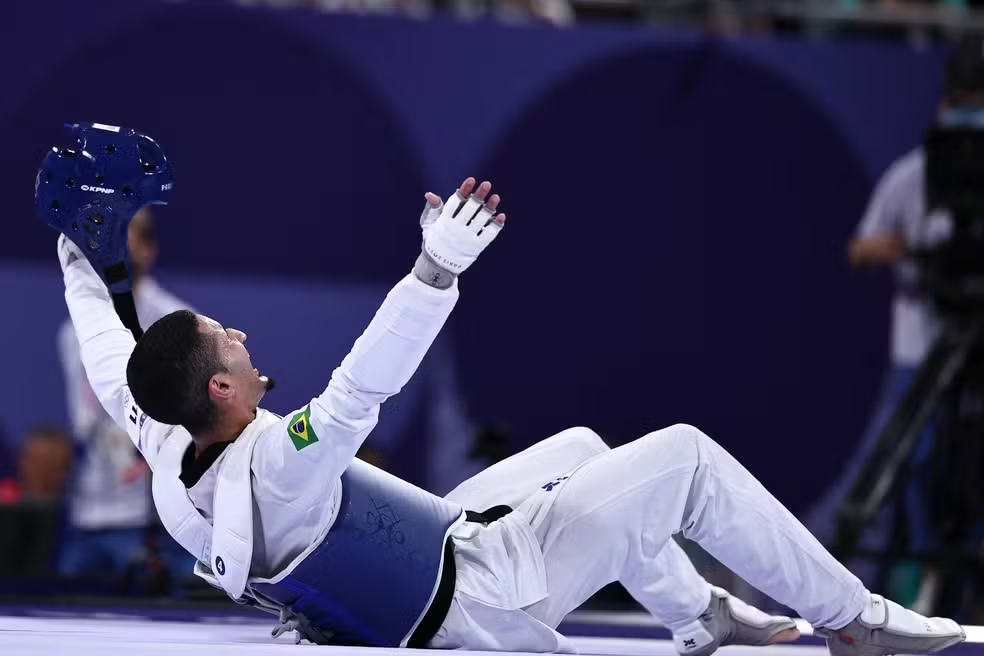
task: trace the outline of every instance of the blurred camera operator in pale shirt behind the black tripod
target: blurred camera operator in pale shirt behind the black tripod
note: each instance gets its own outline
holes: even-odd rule
[[[951,55],[946,85],[937,120],[952,124],[979,114],[984,126],[984,38],[968,36]],[[842,475],[828,488],[807,521],[815,535],[825,542],[833,539],[837,513],[857,479],[861,467],[886,423],[905,396],[924,359],[941,334],[942,323],[932,300],[919,285],[919,272],[911,251],[932,248],[945,239],[950,225],[948,213],[927,212],[925,190],[926,159],[922,145],[895,160],[878,181],[866,212],[848,244],[848,259],[857,269],[891,267],[895,292],[892,298],[889,364],[874,412],[857,454],[845,463]],[[934,447],[932,425],[923,431],[914,450],[911,482],[903,501],[893,513],[883,512],[875,530],[868,536],[873,548],[884,548],[892,523],[905,527],[908,547],[922,551],[931,547],[935,527],[928,505],[930,456]],[[897,522],[902,522],[898,524]],[[869,573],[881,577],[888,594],[900,603],[926,611],[932,603],[937,581],[931,570],[915,563],[898,565],[890,572]]]

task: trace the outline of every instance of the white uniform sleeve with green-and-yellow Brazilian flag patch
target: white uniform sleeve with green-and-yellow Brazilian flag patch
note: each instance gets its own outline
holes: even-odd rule
[[[379,406],[417,370],[458,299],[457,282],[438,290],[413,275],[386,296],[325,391],[259,439],[253,470],[277,496],[331,489],[376,426]]]

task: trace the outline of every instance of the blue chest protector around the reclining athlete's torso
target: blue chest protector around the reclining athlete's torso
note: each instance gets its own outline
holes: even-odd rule
[[[333,643],[423,647],[414,642],[429,640],[447,613],[432,602],[439,584],[441,603],[450,602],[448,534],[464,510],[361,460],[341,480],[338,516],[321,544],[281,581],[250,590],[301,618],[316,642],[330,634]]]

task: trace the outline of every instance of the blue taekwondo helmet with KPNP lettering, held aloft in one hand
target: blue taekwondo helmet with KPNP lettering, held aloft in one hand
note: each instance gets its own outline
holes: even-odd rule
[[[130,292],[127,230],[141,208],[170,201],[167,157],[156,141],[131,128],[65,127],[71,139],[52,148],[38,170],[35,211],[82,250],[111,292]]]

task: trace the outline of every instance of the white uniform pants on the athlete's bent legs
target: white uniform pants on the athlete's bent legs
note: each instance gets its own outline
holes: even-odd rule
[[[665,626],[691,622],[710,592],[675,533],[814,626],[840,628],[868,600],[857,577],[691,426],[612,450],[591,431],[571,429],[448,498],[473,510],[516,510],[455,534],[458,588],[436,648],[574,651],[553,629],[613,581]]]

